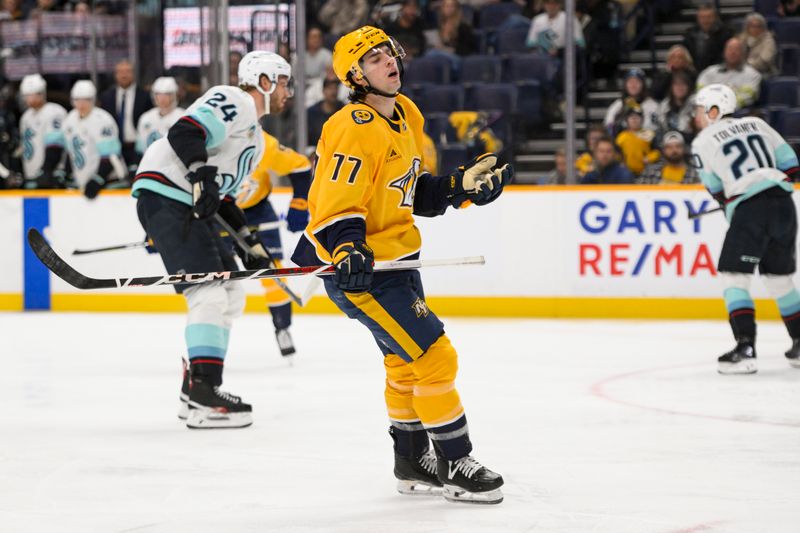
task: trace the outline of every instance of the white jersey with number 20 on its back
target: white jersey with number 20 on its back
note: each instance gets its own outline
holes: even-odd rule
[[[692,142],[692,158],[711,194],[725,193],[729,217],[737,204],[769,187],[793,189],[784,172],[797,166],[797,155],[760,118],[723,118],[708,126]]]

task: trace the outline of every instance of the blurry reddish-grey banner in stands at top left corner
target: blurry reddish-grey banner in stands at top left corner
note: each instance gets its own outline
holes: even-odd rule
[[[92,33],[95,55],[92,56]],[[76,74],[113,70],[128,55],[125,17],[44,13],[39,21],[4,22],[0,25],[5,73],[10,79],[26,74]]]

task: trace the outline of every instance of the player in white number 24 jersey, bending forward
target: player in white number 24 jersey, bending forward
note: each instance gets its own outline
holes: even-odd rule
[[[139,220],[170,273],[235,270],[213,222],[219,214],[250,245],[247,268],[267,268],[260,239],[250,234],[235,194],[263,151],[258,118],[270,94],[289,82],[289,64],[271,52],[250,52],[239,64],[239,87],[216,86],[194,102],[166,137],[144,153],[133,185]],[[237,250],[238,251],[238,250]],[[239,283],[179,287],[189,315],[189,358],[181,418],[190,428],[245,427],[252,408],[220,391],[233,320],[244,308]]]

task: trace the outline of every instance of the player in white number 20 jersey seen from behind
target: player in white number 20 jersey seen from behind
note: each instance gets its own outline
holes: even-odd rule
[[[786,358],[800,367],[800,294],[792,282],[797,213],[791,195],[792,181],[798,177],[797,155],[760,118],[731,117],[736,95],[730,87],[704,87],[695,104],[703,130],[692,143],[694,163],[730,222],[718,270],[736,347],[718,359],[718,370],[757,370],[755,311],[749,293],[756,266],[792,338]]]

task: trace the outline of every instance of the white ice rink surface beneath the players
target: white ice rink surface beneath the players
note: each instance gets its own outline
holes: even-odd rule
[[[241,430],[176,418],[184,316],[0,314],[0,531],[798,533],[800,370],[760,324],[445,319],[475,457],[505,501],[395,492],[383,366],[343,316],[236,324]]]

